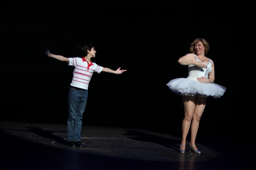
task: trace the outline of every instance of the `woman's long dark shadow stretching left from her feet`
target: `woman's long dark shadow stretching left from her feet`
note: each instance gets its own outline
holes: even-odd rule
[[[122,135],[131,136],[129,139],[143,141],[143,142],[153,142],[156,144],[160,144],[164,147],[169,147],[177,152],[180,151],[180,147],[177,144],[180,143],[180,140],[175,139],[167,139],[157,135],[150,135],[143,132],[135,131],[135,130],[126,130],[128,133],[124,133]]]

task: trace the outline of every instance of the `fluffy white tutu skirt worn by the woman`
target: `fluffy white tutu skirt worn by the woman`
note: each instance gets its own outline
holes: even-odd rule
[[[196,95],[202,94],[220,98],[223,96],[226,88],[215,83],[201,83],[197,80],[178,78],[172,79],[167,84],[168,88],[175,94]]]

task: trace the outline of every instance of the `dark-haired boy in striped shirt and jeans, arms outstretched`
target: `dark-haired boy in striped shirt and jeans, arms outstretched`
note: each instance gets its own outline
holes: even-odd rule
[[[80,45],[79,52],[83,56],[82,58],[66,58],[51,54],[48,50],[44,53],[48,57],[68,62],[68,65],[75,66],[68,96],[67,145],[70,147],[83,147],[80,135],[82,117],[87,102],[88,85],[93,72],[100,73],[101,71],[105,71],[113,74],[122,74],[126,71],[120,70],[120,68],[113,71],[110,68],[104,68],[91,62],[91,58],[94,58],[96,54],[93,44]]]

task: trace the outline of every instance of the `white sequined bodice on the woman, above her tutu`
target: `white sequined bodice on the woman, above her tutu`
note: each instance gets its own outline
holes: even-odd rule
[[[196,55],[195,59],[196,61],[200,61]],[[209,62],[206,65],[207,68],[200,68],[196,65],[188,65],[189,76],[187,79],[197,80],[198,77],[205,77],[208,79],[208,74],[212,71],[211,59],[209,59]]]

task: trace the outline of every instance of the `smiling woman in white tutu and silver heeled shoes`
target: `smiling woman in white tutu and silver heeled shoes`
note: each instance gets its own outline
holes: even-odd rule
[[[190,125],[189,151],[201,153],[195,146],[195,138],[207,97],[219,98],[224,94],[226,88],[214,83],[214,63],[205,56],[209,51],[209,43],[198,38],[190,44],[189,51],[190,54],[186,54],[178,60],[180,65],[188,65],[188,77],[172,79],[167,86],[172,92],[181,96],[184,104],[185,117],[182,123],[180,153],[185,153],[186,136]]]

